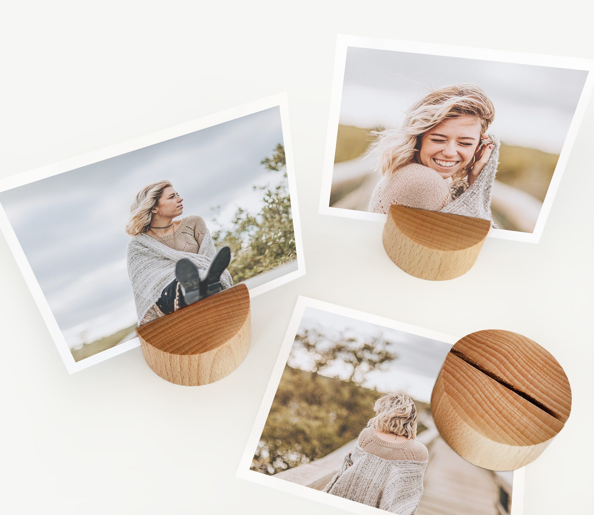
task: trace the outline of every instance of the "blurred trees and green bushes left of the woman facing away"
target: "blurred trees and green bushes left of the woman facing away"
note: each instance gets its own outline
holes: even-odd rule
[[[381,395],[361,384],[369,372],[397,359],[388,344],[381,334],[357,338],[342,331],[328,338],[317,329],[300,331],[252,469],[273,475],[326,456],[356,438],[374,415],[373,403]],[[309,371],[302,369],[306,366]]]

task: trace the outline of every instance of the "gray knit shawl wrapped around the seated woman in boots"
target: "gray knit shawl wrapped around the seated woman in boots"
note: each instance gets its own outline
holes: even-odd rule
[[[197,253],[170,248],[144,233],[134,236],[128,243],[127,262],[138,321],[143,320],[150,307],[159,299],[163,288],[175,279],[175,264],[181,258],[187,258],[201,270],[206,270],[215,253],[213,238],[208,229]],[[223,289],[233,286],[228,270],[223,272],[221,284]]]

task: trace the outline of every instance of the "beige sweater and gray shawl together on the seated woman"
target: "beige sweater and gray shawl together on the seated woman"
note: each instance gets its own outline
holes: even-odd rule
[[[213,239],[200,216],[182,219],[175,232],[166,236],[134,236],[128,243],[127,262],[139,323],[163,316],[154,303],[163,288],[175,279],[175,264],[181,258],[206,270],[215,252]],[[228,270],[221,275],[221,284],[223,289],[233,285]]]

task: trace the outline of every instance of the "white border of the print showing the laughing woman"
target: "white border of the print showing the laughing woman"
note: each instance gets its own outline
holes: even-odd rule
[[[538,53],[511,52],[509,50],[493,50],[484,48],[472,48],[466,46],[440,45],[437,43],[419,43],[412,41],[403,41],[395,39],[380,39],[375,37],[346,36],[339,34],[336,41],[336,54],[334,57],[334,74],[332,78],[332,90],[330,96],[330,115],[328,116],[328,130],[326,134],[326,152],[324,154],[324,168],[322,172],[322,187],[320,192],[320,208],[318,213],[329,214],[333,216],[342,216],[346,218],[355,218],[358,220],[371,220],[372,222],[386,222],[387,215],[381,213],[368,213],[345,209],[340,207],[330,207],[330,190],[332,187],[332,175],[334,170],[334,154],[336,152],[336,137],[340,117],[340,103],[342,102],[342,90],[345,78],[346,53],[349,46],[357,48],[368,48],[375,50],[396,50],[398,52],[424,53],[429,55],[439,55],[444,57],[459,57],[467,59],[478,59],[481,61],[499,61],[514,64],[529,64],[546,67],[571,68],[588,71],[586,82],[577,103],[576,110],[571,119],[571,125],[567,131],[567,136],[563,143],[563,149],[559,154],[557,166],[551,178],[551,183],[546,191],[545,200],[542,203],[541,211],[536,220],[536,225],[532,233],[520,232],[516,230],[493,229],[489,231],[488,236],[492,238],[510,239],[514,241],[523,241],[529,243],[538,243],[541,239],[542,231],[546,219],[551,211],[551,206],[561,181],[561,175],[567,165],[571,148],[576,140],[577,131],[584,113],[586,113],[587,104],[592,94],[594,84],[594,60],[581,59],[573,57],[563,57],[554,55],[543,55]]]

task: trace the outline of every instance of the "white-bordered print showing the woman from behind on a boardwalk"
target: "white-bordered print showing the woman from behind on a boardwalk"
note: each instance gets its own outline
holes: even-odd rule
[[[456,339],[299,297],[238,476],[354,513],[522,513],[523,469],[466,462],[431,392]]]

